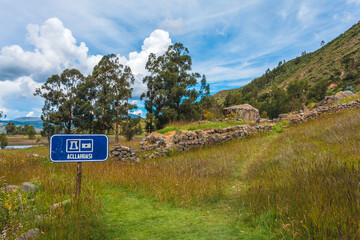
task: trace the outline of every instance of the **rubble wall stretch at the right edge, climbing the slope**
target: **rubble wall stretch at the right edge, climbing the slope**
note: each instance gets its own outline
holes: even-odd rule
[[[332,107],[320,106],[305,112],[295,112],[290,116],[290,124],[298,124],[306,122],[309,119],[317,118],[325,113],[335,113],[346,109],[356,108],[360,106],[360,99],[349,103],[339,104]]]

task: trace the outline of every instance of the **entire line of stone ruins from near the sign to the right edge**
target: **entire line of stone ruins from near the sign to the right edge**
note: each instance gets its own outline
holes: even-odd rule
[[[344,93],[345,92],[345,93]],[[344,96],[352,96],[349,91],[339,92],[334,96],[342,100]],[[332,96],[331,96],[332,97]],[[330,98],[327,98],[330,99]],[[326,98],[323,103],[325,103]],[[333,102],[332,102],[333,103]],[[322,114],[334,113],[346,109],[360,107],[360,99],[349,103],[332,106],[331,104],[317,104],[314,109],[304,109],[292,113],[280,114],[276,119],[261,119],[259,111],[248,104],[233,106],[224,109],[224,114],[239,114],[246,121],[255,121],[256,123],[247,125],[229,126],[223,129],[214,128],[196,131],[174,131],[167,134],[159,134],[153,132],[147,135],[140,142],[140,151],[145,152],[142,156],[144,159],[152,159],[167,155],[172,150],[188,151],[195,147],[203,147],[206,145],[217,145],[233,139],[244,138],[260,132],[269,132],[272,125],[278,121],[288,120],[291,125],[306,122],[314,119]],[[258,124],[257,122],[260,122]],[[134,148],[115,145],[111,150],[111,156],[121,161],[138,162],[140,159]]]

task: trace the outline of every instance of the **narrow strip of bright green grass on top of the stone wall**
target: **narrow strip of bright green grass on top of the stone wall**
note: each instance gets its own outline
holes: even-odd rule
[[[228,126],[236,126],[236,125],[243,125],[247,124],[246,121],[229,121],[229,122],[207,122],[207,123],[185,123],[185,124],[174,124],[166,126],[163,129],[158,130],[158,133],[164,134],[167,132],[172,132],[176,130],[188,130],[188,131],[195,131],[195,130],[204,130],[209,128],[226,128]]]

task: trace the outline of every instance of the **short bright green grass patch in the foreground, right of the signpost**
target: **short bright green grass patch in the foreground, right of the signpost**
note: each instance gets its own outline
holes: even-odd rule
[[[103,192],[104,239],[239,239],[226,212],[178,207],[119,187]]]

